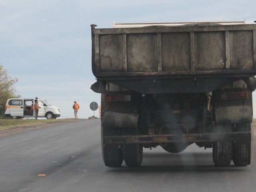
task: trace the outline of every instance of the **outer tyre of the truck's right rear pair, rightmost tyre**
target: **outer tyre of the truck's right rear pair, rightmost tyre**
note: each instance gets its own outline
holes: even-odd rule
[[[235,131],[249,132],[251,131],[251,124],[236,124]],[[235,166],[247,166],[251,164],[251,140],[240,140],[234,142],[233,162]]]

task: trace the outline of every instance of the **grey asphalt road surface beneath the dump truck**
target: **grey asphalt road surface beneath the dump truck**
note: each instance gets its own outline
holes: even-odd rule
[[[253,192],[255,159],[216,167],[212,150],[193,144],[178,154],[144,149],[141,167],[108,168],[100,120],[84,120],[1,137],[0,192]]]

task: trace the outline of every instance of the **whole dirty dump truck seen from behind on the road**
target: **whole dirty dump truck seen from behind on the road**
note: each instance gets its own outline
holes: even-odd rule
[[[106,166],[140,166],[143,148],[179,153],[191,144],[212,148],[216,166],[250,164],[255,24],[92,24],[91,32]]]

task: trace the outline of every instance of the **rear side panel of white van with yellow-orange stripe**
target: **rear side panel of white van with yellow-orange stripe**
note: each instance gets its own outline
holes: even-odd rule
[[[24,101],[23,99],[11,99],[8,102],[11,116],[22,117],[24,115]]]

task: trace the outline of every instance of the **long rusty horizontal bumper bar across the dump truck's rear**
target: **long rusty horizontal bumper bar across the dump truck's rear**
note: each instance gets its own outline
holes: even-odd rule
[[[230,133],[202,133],[183,135],[130,135],[130,136],[104,136],[104,144],[123,143],[172,143],[172,142],[216,142],[251,140],[251,132]]]

